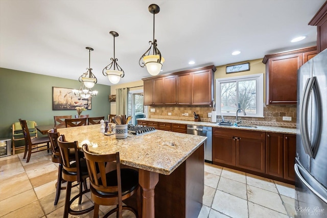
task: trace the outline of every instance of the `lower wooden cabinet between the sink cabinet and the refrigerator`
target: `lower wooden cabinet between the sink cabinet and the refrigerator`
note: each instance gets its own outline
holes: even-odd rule
[[[266,150],[266,174],[294,181],[296,135],[267,132]]]

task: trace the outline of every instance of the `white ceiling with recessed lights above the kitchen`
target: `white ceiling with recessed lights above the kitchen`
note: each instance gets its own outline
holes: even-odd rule
[[[308,22],[325,0],[0,0],[0,67],[77,80],[88,67],[99,84],[115,56],[124,69],[120,83],[150,77],[138,65],[155,38],[166,59],[160,74],[263,58],[266,54],[316,45]],[[307,38],[291,43],[300,35]],[[233,51],[242,53],[232,56]],[[194,60],[194,65],[188,62]],[[96,86],[95,86],[96,87]],[[95,88],[96,89],[96,88]]]

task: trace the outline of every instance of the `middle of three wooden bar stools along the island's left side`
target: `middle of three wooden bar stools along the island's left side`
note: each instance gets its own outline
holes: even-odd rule
[[[57,139],[59,151],[62,160],[62,179],[67,181],[66,186],[66,199],[64,206],[63,217],[68,217],[68,213],[72,215],[80,215],[88,213],[94,209],[94,206],[91,206],[87,209],[81,209],[79,211],[73,210],[71,208],[72,203],[79,198],[78,204],[82,202],[82,196],[89,192],[90,189],[87,189],[86,178],[88,178],[87,166],[85,159],[83,158],[83,153],[78,151],[78,141],[67,142],[64,135],[60,135]],[[72,155],[74,154],[74,155]],[[77,181],[80,185],[80,191],[78,195],[71,199],[72,192],[72,183]],[[84,191],[83,189],[84,185]]]

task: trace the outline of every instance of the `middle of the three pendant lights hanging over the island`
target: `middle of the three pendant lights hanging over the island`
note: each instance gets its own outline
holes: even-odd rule
[[[104,76],[107,76],[109,81],[113,84],[117,84],[119,83],[119,81],[121,80],[121,78],[123,78],[125,76],[124,70],[122,69],[122,67],[120,67],[117,63],[118,59],[115,58],[115,54],[114,54],[114,38],[119,36],[118,33],[114,32],[114,31],[110,31],[109,32],[110,35],[113,36],[113,58],[110,58],[111,63],[108,64],[105,68],[103,68],[102,70],[102,74]],[[113,69],[111,69],[113,67]]]

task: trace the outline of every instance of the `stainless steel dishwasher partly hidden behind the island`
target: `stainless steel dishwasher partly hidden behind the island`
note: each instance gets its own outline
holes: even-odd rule
[[[204,142],[204,161],[208,163],[213,162],[213,128],[188,125],[188,134],[206,136]]]

